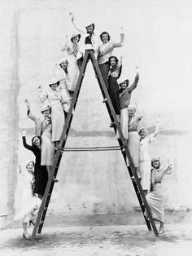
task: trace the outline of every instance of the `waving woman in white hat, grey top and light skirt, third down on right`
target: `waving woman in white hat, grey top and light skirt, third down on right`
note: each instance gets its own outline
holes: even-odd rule
[[[129,79],[120,78],[120,128],[124,135],[124,139],[128,141],[128,107],[130,104],[132,91],[137,87],[139,74],[136,73],[136,77],[131,86],[129,86]]]

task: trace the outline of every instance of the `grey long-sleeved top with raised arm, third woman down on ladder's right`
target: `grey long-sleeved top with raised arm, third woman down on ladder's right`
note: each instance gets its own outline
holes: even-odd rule
[[[128,108],[132,91],[137,87],[139,76],[135,77],[133,84],[120,93],[120,109]]]

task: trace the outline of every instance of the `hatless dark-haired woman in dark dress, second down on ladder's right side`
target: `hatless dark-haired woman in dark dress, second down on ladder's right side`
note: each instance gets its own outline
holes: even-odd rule
[[[109,57],[110,70],[108,73],[109,96],[111,103],[116,113],[116,118],[120,121],[120,98],[119,98],[119,85],[117,79],[120,77],[122,67],[122,57],[120,61],[116,56]],[[115,123],[111,123],[110,127],[114,127]]]

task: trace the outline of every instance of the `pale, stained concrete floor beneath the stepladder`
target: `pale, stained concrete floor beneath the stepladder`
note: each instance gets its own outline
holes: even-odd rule
[[[2,230],[0,255],[192,255],[192,225],[166,225],[159,237],[144,225],[46,227],[36,241],[25,241],[21,234],[20,228]]]

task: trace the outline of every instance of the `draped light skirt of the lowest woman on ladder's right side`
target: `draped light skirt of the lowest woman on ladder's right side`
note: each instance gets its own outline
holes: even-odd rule
[[[146,201],[150,207],[152,217],[164,223],[163,186],[161,183],[156,183],[153,190],[147,193]],[[146,212],[145,215],[148,217]]]

